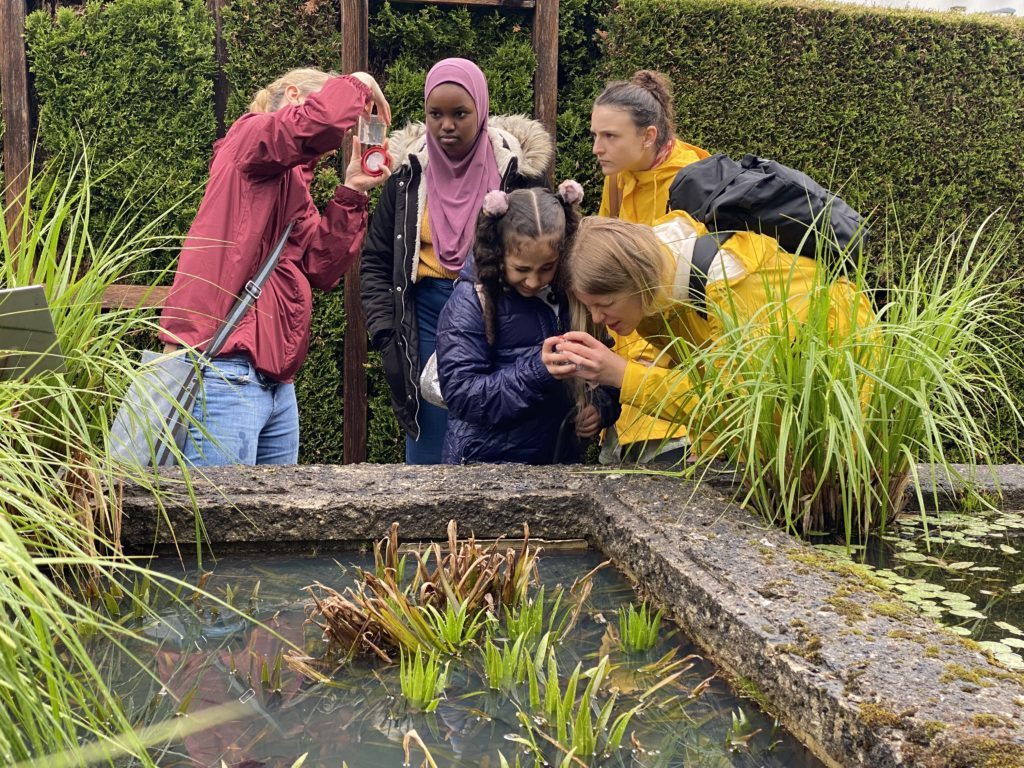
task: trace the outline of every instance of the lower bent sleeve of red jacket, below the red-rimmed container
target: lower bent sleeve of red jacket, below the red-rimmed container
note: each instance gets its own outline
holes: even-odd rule
[[[335,190],[302,256],[302,271],[313,288],[330,291],[355,263],[367,233],[369,203],[366,195],[347,186]]]

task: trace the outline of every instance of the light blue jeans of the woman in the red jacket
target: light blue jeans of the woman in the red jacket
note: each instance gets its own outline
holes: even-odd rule
[[[248,357],[217,357],[200,369],[201,387],[185,460],[197,467],[225,464],[295,464],[299,460],[299,409],[295,385],[263,376]]]

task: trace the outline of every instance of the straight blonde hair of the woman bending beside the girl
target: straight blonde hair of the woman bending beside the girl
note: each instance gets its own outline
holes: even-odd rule
[[[654,230],[622,219],[587,216],[580,222],[565,259],[572,327],[593,332],[590,313],[575,292],[640,296],[644,315],[660,311],[669,300],[666,255]]]

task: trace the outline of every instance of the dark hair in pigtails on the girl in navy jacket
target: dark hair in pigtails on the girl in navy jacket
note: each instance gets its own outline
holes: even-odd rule
[[[476,219],[473,263],[477,283],[483,288],[480,304],[483,310],[483,331],[488,344],[495,344],[498,303],[505,290],[505,245],[508,240],[560,238],[558,266],[552,285],[556,290],[562,291],[562,264],[579,226],[579,204],[566,203],[560,195],[543,187],[510,193],[508,210],[503,214],[492,215],[480,211]]]

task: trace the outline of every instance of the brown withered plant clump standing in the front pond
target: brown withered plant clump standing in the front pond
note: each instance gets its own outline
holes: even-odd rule
[[[500,547],[482,547],[473,536],[460,542],[452,520],[446,553],[434,543],[399,556],[398,523],[392,523],[388,537],[374,546],[374,571],[359,569],[354,587],[338,592],[317,582],[306,588],[312,596],[309,621],[324,630],[332,650],[343,653],[371,653],[390,663],[395,648],[443,650],[440,611],[457,609],[471,620],[499,616],[503,605],[520,603],[538,584],[541,550],[530,546],[528,525],[518,549]]]

